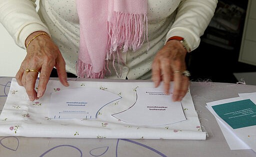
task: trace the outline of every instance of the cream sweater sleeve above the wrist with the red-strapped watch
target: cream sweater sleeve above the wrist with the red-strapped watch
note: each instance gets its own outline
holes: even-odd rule
[[[186,40],[191,51],[197,48],[216,5],[217,0],[181,0],[166,40],[171,36],[180,36]]]

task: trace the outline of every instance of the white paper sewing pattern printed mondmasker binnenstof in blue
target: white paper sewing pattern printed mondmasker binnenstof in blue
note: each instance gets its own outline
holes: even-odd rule
[[[96,88],[73,88],[52,92],[49,117],[95,119],[102,107],[118,99],[121,97]]]

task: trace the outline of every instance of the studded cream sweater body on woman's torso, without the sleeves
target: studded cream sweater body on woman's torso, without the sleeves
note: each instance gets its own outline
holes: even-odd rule
[[[171,27],[175,9],[180,0],[148,0],[148,43],[137,51],[122,54],[124,64],[120,64],[122,76],[119,79],[149,79],[151,63],[155,53],[163,46],[165,35]],[[79,18],[75,0],[40,0],[39,15],[48,26],[53,41],[66,62],[66,71],[76,74],[75,65],[79,52]],[[100,45],[100,41],[99,41]],[[149,45],[149,49],[147,50]],[[114,71],[109,66],[111,71]],[[106,78],[115,79],[115,72]]]

